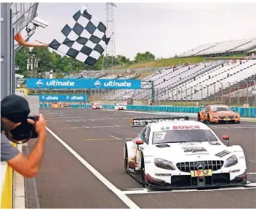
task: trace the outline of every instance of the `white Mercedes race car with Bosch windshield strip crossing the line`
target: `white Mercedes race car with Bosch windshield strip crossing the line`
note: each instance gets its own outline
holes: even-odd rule
[[[244,151],[228,146],[188,117],[134,118],[143,131],[124,144],[124,169],[146,188],[175,189],[247,184]],[[229,140],[229,136],[223,136]]]

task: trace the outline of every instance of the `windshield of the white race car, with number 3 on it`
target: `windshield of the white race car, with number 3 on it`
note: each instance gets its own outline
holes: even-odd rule
[[[216,137],[209,130],[169,130],[153,133],[152,144],[217,141]]]

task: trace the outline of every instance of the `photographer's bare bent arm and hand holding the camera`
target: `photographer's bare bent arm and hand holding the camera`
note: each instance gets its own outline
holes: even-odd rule
[[[13,170],[27,178],[33,178],[33,176],[35,176],[39,171],[41,158],[44,154],[44,143],[47,138],[47,122],[44,120],[44,116],[40,114],[36,115],[36,118],[38,118],[36,122],[28,119],[28,123],[33,124],[35,126],[36,133],[39,134],[32,152],[28,157],[20,153],[12,160],[7,161]]]

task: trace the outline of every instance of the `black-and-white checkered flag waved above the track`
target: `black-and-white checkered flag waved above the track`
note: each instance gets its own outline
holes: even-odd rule
[[[103,22],[89,15],[84,7],[73,15],[71,22],[61,30],[60,37],[49,47],[92,66],[103,54],[113,34],[106,29]]]

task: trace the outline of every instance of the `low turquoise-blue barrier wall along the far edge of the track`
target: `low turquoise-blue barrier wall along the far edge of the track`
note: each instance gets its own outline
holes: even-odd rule
[[[102,105],[103,109],[113,110],[114,105]],[[50,105],[40,105],[40,107],[50,107]],[[89,108],[90,105],[71,105],[71,108]],[[127,110],[145,112],[180,112],[198,113],[204,107],[179,107],[179,106],[148,106],[148,105],[127,105]],[[239,112],[242,118],[256,118],[256,107],[231,107]]]

